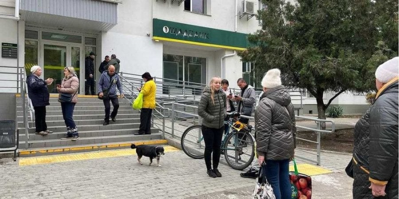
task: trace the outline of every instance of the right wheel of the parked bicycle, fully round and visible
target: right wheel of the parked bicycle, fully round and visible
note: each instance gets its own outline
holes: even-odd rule
[[[247,168],[255,156],[253,137],[245,132],[232,132],[223,144],[227,164],[236,170]]]

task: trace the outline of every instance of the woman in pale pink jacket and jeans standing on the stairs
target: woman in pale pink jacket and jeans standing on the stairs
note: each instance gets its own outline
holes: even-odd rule
[[[57,87],[58,93],[70,94],[72,95],[72,100],[70,102],[61,102],[62,117],[64,118],[66,125],[66,136],[61,139],[71,139],[78,140],[79,134],[78,129],[73,121],[73,109],[75,104],[78,102],[77,92],[79,89],[79,79],[76,77],[75,69],[68,66],[64,68],[64,79],[61,85]]]

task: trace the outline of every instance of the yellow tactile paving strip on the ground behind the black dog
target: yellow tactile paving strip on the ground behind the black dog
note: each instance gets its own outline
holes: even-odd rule
[[[165,148],[165,153],[180,151],[179,149],[172,146],[165,146],[164,148]],[[78,161],[78,160],[90,160],[90,159],[110,158],[110,157],[129,156],[129,155],[136,155],[136,150],[123,149],[115,151],[100,151],[100,152],[89,152],[81,154],[58,155],[51,157],[46,156],[46,157],[36,157],[36,158],[19,158],[19,166],[69,162],[69,161]]]

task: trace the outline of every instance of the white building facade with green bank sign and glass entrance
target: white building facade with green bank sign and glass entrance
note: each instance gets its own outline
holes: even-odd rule
[[[115,54],[123,73],[200,84],[220,76],[236,88],[244,77],[260,87],[252,78],[256,66],[242,63],[236,52],[260,28],[254,13],[263,8],[260,0],[1,0],[0,42],[8,54],[0,67],[10,74],[0,73],[0,93],[17,93],[12,73],[29,74],[33,65],[43,68],[42,78],[55,79],[50,93],[65,66],[73,66],[82,83],[90,52],[97,54],[97,80],[104,57]],[[84,89],[80,84],[79,94]],[[315,100],[304,99],[317,112]]]

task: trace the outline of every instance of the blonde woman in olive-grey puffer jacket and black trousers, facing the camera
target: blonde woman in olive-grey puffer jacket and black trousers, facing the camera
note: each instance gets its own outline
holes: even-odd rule
[[[202,136],[205,142],[204,159],[206,174],[209,177],[221,177],[217,170],[220,159],[221,138],[224,131],[224,117],[226,113],[226,95],[220,88],[221,79],[213,77],[209,86],[202,92],[198,115],[202,117]],[[213,170],[210,157],[213,151]]]

